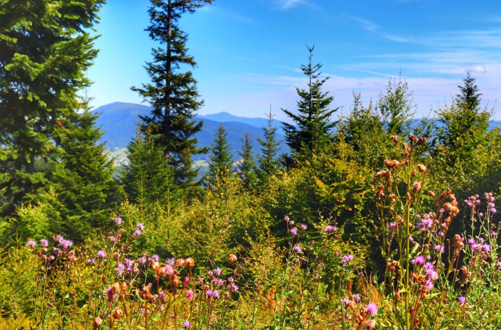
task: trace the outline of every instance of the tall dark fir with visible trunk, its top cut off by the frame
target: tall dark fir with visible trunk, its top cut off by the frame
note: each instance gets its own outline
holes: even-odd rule
[[[188,35],[179,28],[179,19],[185,13],[210,4],[212,0],[150,0],[151,25],[146,29],[150,38],[160,44],[152,49],[153,61],[146,71],[151,84],[133,87],[153,108],[151,116],[141,117],[143,129],[152,129],[155,143],[174,169],[174,182],[184,188],[194,184],[198,169],[193,168],[192,156],[207,151],[197,147],[195,134],[202,122],[194,116],[203,101],[196,80],[190,71],[179,72],[181,67],[195,67],[192,56],[187,54]]]

